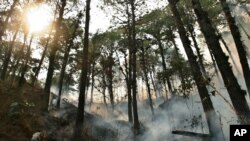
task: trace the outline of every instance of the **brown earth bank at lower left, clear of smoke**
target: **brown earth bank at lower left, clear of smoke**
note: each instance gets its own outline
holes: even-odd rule
[[[25,84],[23,88],[0,81],[0,140],[29,141],[45,127],[42,116],[43,90]]]

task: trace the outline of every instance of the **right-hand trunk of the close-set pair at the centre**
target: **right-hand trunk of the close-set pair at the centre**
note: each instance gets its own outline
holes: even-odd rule
[[[137,111],[137,82],[136,82],[136,52],[137,52],[137,46],[136,46],[136,31],[135,31],[135,0],[130,0],[130,6],[131,6],[131,29],[132,29],[132,42],[131,47],[132,50],[132,92],[133,92],[133,115],[134,115],[134,129],[138,131],[140,129],[140,123],[139,123],[139,117],[138,117],[138,111]]]

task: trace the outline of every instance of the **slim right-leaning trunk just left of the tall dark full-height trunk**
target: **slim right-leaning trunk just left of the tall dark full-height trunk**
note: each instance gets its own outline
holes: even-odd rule
[[[64,75],[65,75],[65,70],[66,70],[66,67],[67,67],[67,64],[68,64],[68,60],[69,60],[69,53],[70,53],[71,47],[74,45],[74,39],[76,37],[76,32],[77,32],[77,29],[79,27],[81,17],[82,17],[82,13],[79,13],[78,19],[77,19],[77,21],[75,23],[75,27],[74,27],[72,37],[69,39],[69,41],[66,44],[67,46],[66,46],[66,50],[65,50],[65,53],[64,53],[64,56],[63,56],[63,64],[62,64],[62,68],[61,68],[61,71],[60,71],[59,83],[58,83],[59,91],[58,91],[58,97],[57,97],[57,103],[56,103],[56,107],[58,109],[60,108],[62,87],[63,87],[63,79],[64,79]]]

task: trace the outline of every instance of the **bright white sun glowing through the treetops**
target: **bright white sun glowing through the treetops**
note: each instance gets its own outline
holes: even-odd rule
[[[41,4],[27,10],[27,23],[31,33],[45,30],[52,22],[51,9],[48,5]]]

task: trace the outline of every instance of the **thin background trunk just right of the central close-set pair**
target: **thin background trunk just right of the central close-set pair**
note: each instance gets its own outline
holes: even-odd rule
[[[148,80],[148,72],[147,72],[146,61],[145,61],[145,50],[144,50],[143,46],[141,47],[141,50],[142,50],[142,55],[141,55],[142,56],[142,69],[143,69],[143,73],[145,76],[145,82],[146,82],[148,99],[149,99],[149,106],[150,106],[150,110],[152,112],[152,115],[154,117],[155,113],[154,113],[154,108],[153,108],[152,94],[151,94],[149,80]]]

